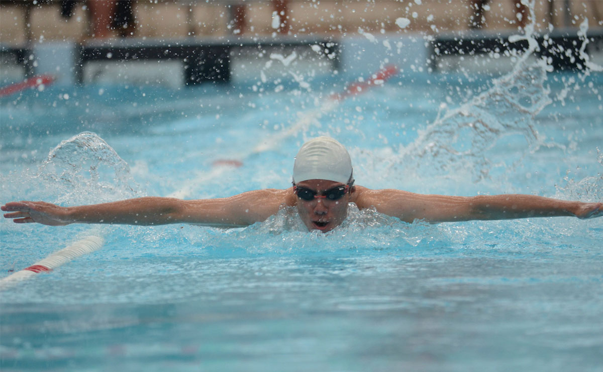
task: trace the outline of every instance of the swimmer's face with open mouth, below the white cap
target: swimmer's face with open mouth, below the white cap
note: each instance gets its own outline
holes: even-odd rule
[[[318,196],[323,196],[326,191],[339,186],[346,186],[341,182],[327,180],[307,180],[296,184],[297,188],[304,188],[315,192]],[[320,230],[323,233],[335,229],[347,217],[347,204],[350,202],[350,195],[354,188],[350,188],[343,197],[337,200],[329,198],[312,198],[304,200],[297,197],[297,212],[301,221],[308,227],[308,230]]]

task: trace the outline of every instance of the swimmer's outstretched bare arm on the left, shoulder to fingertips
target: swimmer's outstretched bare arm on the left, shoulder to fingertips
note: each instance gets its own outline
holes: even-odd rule
[[[180,200],[143,197],[88,206],[60,207],[43,201],[17,201],[1,207],[16,223],[85,224],[198,224],[241,227],[264,221],[287,203],[285,190],[257,190],[228,198]]]

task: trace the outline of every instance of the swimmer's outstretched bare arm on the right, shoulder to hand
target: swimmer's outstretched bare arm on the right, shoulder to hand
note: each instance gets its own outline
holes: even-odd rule
[[[581,219],[603,216],[603,203],[582,203],[536,195],[478,195],[452,197],[423,195],[400,190],[359,190],[358,207],[375,207],[378,212],[403,221],[470,221],[575,216]]]

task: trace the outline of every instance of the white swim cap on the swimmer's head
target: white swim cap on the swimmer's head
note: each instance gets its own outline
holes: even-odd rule
[[[330,137],[304,143],[295,156],[293,183],[306,180],[352,181],[352,159],[346,148]]]

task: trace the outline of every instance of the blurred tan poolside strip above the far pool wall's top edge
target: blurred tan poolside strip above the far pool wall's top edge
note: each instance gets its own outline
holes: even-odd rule
[[[118,37],[508,31],[525,26],[529,17],[519,0],[2,0],[0,7],[0,42],[9,45]],[[538,0],[535,26],[572,28],[588,19],[591,28],[602,27],[602,13],[601,1]]]

